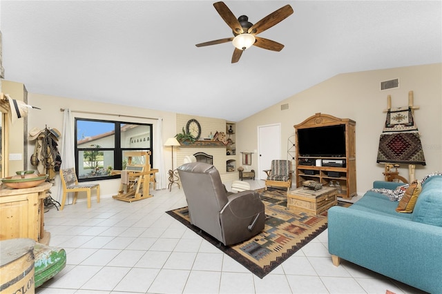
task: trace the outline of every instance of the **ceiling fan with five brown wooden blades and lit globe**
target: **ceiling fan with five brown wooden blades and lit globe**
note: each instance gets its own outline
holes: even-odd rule
[[[252,45],[278,52],[284,48],[284,45],[281,43],[257,37],[256,35],[258,35],[260,32],[264,32],[268,28],[275,26],[280,21],[283,21],[289,17],[293,13],[293,8],[291,8],[289,4],[272,12],[271,14],[267,15],[267,17],[261,19],[255,24],[250,23],[249,17],[245,15],[241,15],[238,17],[238,19],[236,19],[235,15],[233,15],[231,10],[222,1],[213,3],[213,6],[215,6],[216,11],[218,11],[222,19],[224,19],[227,25],[232,29],[234,37],[199,43],[195,46],[204,47],[232,41],[233,46],[235,46],[232,56],[232,63],[238,62],[242,52]]]

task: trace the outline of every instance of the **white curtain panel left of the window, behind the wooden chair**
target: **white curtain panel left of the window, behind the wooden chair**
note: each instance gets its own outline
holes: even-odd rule
[[[63,130],[61,131],[61,169],[75,168],[75,131],[74,119],[70,109],[64,109]],[[57,181],[57,201],[61,202],[63,196],[63,187],[61,187],[61,179]],[[65,204],[72,204],[73,193],[68,193]]]

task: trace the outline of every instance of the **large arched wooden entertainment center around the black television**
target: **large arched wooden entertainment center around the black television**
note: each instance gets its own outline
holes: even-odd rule
[[[318,128],[323,126],[345,126],[345,156],[302,156],[299,153],[298,130],[304,128]],[[356,121],[352,119],[339,119],[332,115],[316,113],[294,126],[296,132],[296,187],[301,187],[302,182],[314,180],[324,186],[338,183],[340,191],[338,197],[350,199],[356,196]],[[324,141],[323,144],[331,144]],[[327,161],[343,162],[327,166]]]

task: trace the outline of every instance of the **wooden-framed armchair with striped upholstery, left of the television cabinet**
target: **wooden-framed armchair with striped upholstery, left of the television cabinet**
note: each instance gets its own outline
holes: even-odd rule
[[[267,173],[267,179],[265,180],[265,190],[267,186],[278,186],[291,188],[291,161],[285,159],[275,159],[271,161],[271,169],[264,170]]]

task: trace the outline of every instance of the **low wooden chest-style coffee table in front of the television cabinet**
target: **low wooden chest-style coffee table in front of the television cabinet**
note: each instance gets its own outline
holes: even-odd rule
[[[287,208],[316,215],[338,204],[336,188],[323,186],[320,190],[296,188],[287,192]]]

